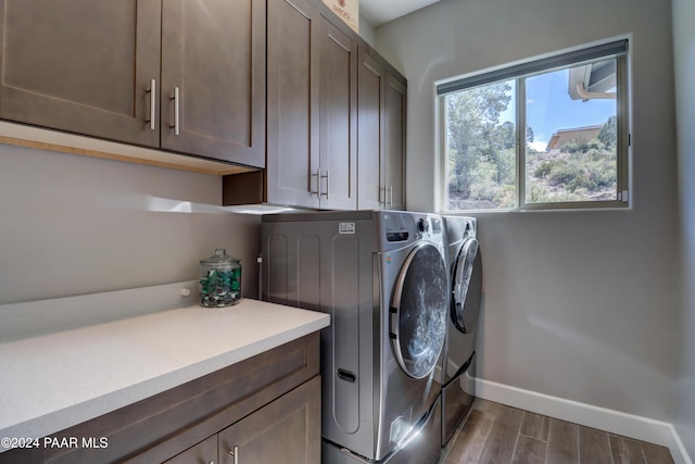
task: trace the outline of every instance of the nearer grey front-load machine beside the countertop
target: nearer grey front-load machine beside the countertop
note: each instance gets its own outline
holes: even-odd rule
[[[432,463],[441,444],[448,271],[437,215],[263,216],[263,298],[326,312],[325,464]]]

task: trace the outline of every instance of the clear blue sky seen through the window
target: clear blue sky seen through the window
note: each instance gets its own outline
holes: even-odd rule
[[[527,124],[533,129],[536,149],[545,150],[558,129],[604,124],[616,114],[616,100],[572,100],[568,93],[568,70],[560,70],[526,81]],[[501,122],[514,121],[514,104],[509,106],[502,113]]]

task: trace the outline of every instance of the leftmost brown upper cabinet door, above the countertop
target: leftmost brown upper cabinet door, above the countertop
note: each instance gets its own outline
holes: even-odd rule
[[[0,117],[159,146],[161,3],[0,0]]]

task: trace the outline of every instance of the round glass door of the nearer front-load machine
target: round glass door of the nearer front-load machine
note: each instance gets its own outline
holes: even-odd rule
[[[444,346],[447,287],[446,265],[437,247],[417,246],[399,274],[390,323],[395,358],[413,378],[432,372]]]

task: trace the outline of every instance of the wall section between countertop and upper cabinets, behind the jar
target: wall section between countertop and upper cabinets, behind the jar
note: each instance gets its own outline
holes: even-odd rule
[[[216,247],[256,297],[260,218],[220,201],[217,176],[0,145],[0,304],[193,280]]]

